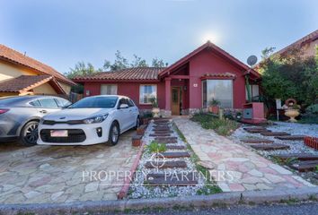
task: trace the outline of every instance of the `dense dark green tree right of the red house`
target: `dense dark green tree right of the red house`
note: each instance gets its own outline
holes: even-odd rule
[[[273,51],[272,47],[262,51],[260,71],[265,97],[294,98],[304,106],[313,104],[318,91],[317,60],[304,57],[302,50],[296,48],[284,55],[270,56]]]

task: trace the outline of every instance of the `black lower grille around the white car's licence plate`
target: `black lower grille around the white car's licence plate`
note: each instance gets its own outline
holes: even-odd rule
[[[42,129],[40,131],[40,139],[43,142],[84,142],[86,140],[86,135],[82,129],[67,129],[67,137],[51,137],[51,131],[53,130]]]

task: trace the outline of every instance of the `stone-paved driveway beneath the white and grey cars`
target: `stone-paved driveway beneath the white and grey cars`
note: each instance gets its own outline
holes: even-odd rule
[[[40,146],[0,143],[0,203],[117,199],[137,148],[129,131],[116,146]]]

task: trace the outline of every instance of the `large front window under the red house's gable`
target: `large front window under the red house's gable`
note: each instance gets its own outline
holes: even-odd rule
[[[205,80],[202,82],[202,106],[208,107],[212,99],[220,102],[220,107],[233,108],[232,80]]]

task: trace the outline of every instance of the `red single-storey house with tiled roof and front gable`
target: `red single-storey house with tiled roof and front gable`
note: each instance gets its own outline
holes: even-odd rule
[[[138,67],[76,77],[84,96],[126,95],[141,110],[157,98],[164,116],[186,115],[208,107],[212,99],[221,107],[242,109],[246,102],[245,77],[258,96],[261,75],[215,44],[207,42],[165,68]]]

